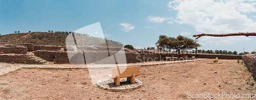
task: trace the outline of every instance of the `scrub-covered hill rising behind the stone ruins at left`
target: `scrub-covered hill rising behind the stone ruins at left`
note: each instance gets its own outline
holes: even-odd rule
[[[75,34],[77,37],[76,41],[87,42],[82,45],[90,45],[88,41],[105,41],[105,39],[90,37],[87,34]],[[33,43],[34,45],[66,45],[66,38],[68,34],[62,33],[48,33],[48,32],[32,32],[32,33],[16,33],[7,34],[0,36],[0,43],[6,42],[10,44],[16,43]],[[81,40],[82,39],[82,40]],[[121,43],[116,41],[108,40],[109,46],[123,46]]]

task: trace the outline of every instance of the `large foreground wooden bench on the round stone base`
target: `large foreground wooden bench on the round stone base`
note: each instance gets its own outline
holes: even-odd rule
[[[139,76],[140,66],[134,67],[119,67],[113,68],[112,74],[108,74],[111,79],[114,79],[116,86],[120,86],[120,78],[127,78],[127,81],[135,83],[135,76]]]

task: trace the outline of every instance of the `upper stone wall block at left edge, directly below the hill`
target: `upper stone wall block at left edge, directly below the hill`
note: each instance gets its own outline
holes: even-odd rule
[[[27,54],[28,48],[26,45],[5,45],[0,46],[0,52],[4,52],[4,54]]]

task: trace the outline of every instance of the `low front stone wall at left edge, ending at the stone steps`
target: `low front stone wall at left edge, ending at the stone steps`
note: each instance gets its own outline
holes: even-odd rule
[[[35,60],[32,60],[28,55],[7,55],[0,54],[0,62],[6,63],[25,63],[25,64],[37,64]]]

